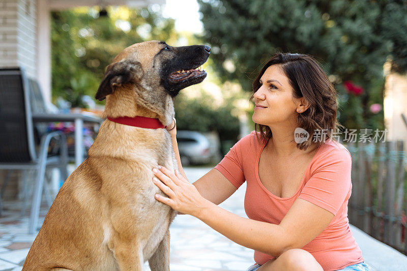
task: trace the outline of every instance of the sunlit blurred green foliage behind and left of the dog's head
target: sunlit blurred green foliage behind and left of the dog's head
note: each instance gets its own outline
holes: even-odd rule
[[[98,17],[94,8],[51,12],[52,98],[83,106],[94,97],[104,69],[124,48],[146,40],[177,39],[174,20],[148,9],[109,7]]]

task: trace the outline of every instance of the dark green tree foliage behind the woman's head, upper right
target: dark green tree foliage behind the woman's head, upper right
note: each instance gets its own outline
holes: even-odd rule
[[[383,129],[383,65],[407,69],[407,16],[402,1],[368,0],[198,0],[212,45],[211,57],[223,80],[238,80],[251,90],[256,72],[277,51],[306,53],[319,61],[335,83],[339,121],[350,129]],[[404,4],[403,4],[404,3]],[[233,68],[227,68],[227,62]],[[229,65],[230,66],[230,65]],[[362,86],[360,97],[342,82]]]

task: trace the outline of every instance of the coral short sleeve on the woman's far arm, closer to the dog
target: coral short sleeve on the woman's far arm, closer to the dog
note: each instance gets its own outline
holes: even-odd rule
[[[215,166],[220,173],[225,176],[232,185],[239,188],[245,182],[243,161],[249,153],[251,138],[253,132],[245,137],[242,137],[229,152],[225,155],[222,161]]]

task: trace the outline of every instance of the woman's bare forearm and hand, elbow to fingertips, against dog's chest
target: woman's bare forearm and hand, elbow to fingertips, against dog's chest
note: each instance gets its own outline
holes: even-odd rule
[[[184,214],[192,215],[235,243],[278,257],[288,246],[282,227],[267,222],[239,217],[202,197],[177,171],[171,173],[161,167],[153,170],[159,178],[153,178],[167,197],[156,195],[156,199]],[[219,174],[221,174],[219,172]]]

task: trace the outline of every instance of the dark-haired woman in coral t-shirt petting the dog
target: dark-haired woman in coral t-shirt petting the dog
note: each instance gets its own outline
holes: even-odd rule
[[[277,53],[254,80],[251,100],[257,132],[193,185],[181,166],[182,175],[153,169],[168,196],[156,199],[255,250],[250,271],[368,270],[347,219],[351,155],[332,132],[316,137],[342,127],[326,74],[308,55]],[[176,129],[169,132],[181,165]],[[245,180],[249,219],[217,206]]]

